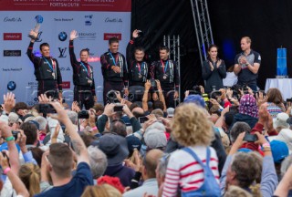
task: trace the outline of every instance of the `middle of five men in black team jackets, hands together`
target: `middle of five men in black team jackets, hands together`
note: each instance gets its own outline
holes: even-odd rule
[[[111,37],[109,51],[100,57],[101,72],[103,75],[103,102],[106,104],[107,93],[110,90],[118,90],[128,96],[128,67],[125,57],[118,52],[119,39]],[[124,91],[122,91],[124,89]]]

